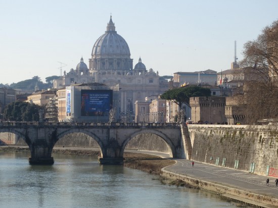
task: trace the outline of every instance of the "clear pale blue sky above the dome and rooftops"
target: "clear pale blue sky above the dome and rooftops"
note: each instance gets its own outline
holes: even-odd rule
[[[228,70],[243,44],[278,19],[276,0],[0,0],[0,83],[60,76],[88,66],[92,46],[112,20],[129,45],[159,75]]]

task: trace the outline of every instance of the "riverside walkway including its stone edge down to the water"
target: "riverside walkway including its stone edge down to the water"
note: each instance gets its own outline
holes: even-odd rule
[[[169,158],[170,159],[170,158]],[[187,178],[184,181],[198,181],[199,187],[215,192],[225,192],[222,196],[238,199],[255,207],[278,207],[278,186],[275,186],[275,178],[260,176],[235,169],[224,168],[212,164],[194,161],[194,167],[189,160],[173,159],[176,164],[163,168],[168,176],[177,179]],[[167,176],[163,175],[164,176]],[[269,186],[266,179],[269,178]],[[193,182],[194,183],[194,182]],[[210,184],[210,188],[208,188]],[[223,190],[223,191],[221,191]]]

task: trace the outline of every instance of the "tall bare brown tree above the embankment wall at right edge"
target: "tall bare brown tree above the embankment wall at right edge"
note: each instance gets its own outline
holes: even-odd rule
[[[245,76],[246,119],[254,123],[278,117],[278,21],[267,26],[254,41],[244,45],[240,62]]]

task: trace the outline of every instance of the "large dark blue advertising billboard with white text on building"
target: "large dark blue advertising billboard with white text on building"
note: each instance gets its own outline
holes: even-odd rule
[[[81,90],[81,116],[109,116],[113,90]]]

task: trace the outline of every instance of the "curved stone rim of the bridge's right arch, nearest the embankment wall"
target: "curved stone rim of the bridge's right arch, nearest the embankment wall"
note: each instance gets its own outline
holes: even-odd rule
[[[169,151],[170,157],[176,157],[176,148],[175,148],[174,144],[172,143],[172,141],[170,140],[170,138],[165,133],[158,131],[158,130],[153,130],[153,129],[140,129],[140,130],[137,130],[137,131],[127,135],[126,139],[124,140],[124,142],[121,145],[120,155],[123,156],[123,152],[125,150],[126,145],[128,144],[128,142],[130,140],[132,140],[133,137],[135,137],[136,135],[139,135],[139,134],[143,134],[143,133],[153,133],[153,134],[156,134],[159,137],[161,137],[162,140],[167,145],[168,149],[170,150]]]

